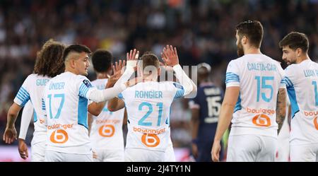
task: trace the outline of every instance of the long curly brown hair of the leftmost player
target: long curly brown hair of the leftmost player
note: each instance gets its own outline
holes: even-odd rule
[[[61,74],[65,69],[62,58],[65,47],[64,44],[53,39],[45,42],[42,49],[37,52],[33,73],[49,77]]]

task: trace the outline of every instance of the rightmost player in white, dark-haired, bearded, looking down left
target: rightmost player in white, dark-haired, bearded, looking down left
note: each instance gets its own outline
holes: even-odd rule
[[[318,161],[318,64],[308,56],[304,33],[292,32],[279,42],[291,105],[290,160]]]

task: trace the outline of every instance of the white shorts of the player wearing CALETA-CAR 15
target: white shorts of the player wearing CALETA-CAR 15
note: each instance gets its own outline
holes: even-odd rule
[[[273,162],[277,139],[261,135],[230,135],[228,139],[229,162]]]

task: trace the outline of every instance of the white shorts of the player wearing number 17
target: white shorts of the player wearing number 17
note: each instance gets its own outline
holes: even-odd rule
[[[57,151],[45,151],[47,162],[93,162],[92,154],[61,153]]]

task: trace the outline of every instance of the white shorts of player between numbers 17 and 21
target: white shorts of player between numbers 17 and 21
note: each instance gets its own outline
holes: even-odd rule
[[[98,158],[95,162],[124,162],[124,150],[94,149]]]

